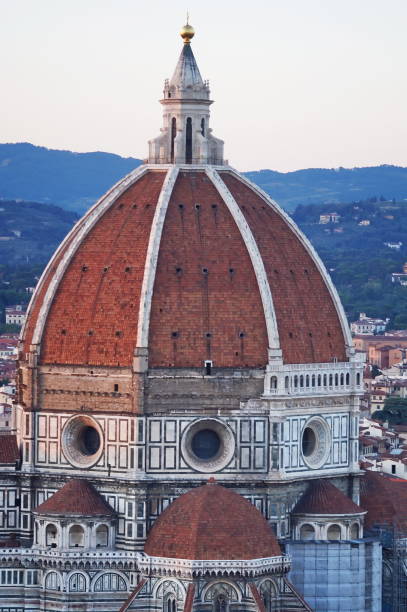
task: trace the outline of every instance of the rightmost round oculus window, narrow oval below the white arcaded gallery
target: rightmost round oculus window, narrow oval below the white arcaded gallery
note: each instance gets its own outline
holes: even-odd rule
[[[313,417],[305,423],[301,436],[301,453],[308,467],[316,470],[324,465],[331,448],[331,432],[321,417]]]

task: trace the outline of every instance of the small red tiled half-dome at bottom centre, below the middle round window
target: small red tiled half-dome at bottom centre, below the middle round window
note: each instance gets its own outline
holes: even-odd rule
[[[152,557],[192,560],[281,555],[259,510],[241,495],[213,483],[178,497],[154,523],[144,551]]]

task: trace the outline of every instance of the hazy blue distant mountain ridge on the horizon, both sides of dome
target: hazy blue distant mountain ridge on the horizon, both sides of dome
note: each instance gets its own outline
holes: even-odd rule
[[[140,159],[112,153],[73,153],[24,142],[0,144],[0,198],[57,204],[82,214],[141,163]],[[407,168],[400,166],[245,174],[291,211],[299,204],[335,204],[381,195],[407,198]]]

